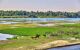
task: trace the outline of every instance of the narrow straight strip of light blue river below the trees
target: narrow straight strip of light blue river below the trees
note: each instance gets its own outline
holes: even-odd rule
[[[0,18],[0,20],[16,20],[16,21],[54,21],[54,20],[80,20],[80,18]]]

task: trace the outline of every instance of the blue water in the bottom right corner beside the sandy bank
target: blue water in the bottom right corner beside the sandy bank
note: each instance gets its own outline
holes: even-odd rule
[[[60,48],[51,48],[48,50],[80,50],[80,45],[60,47]]]

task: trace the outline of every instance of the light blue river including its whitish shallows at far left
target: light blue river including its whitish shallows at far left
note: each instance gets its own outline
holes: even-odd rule
[[[80,21],[80,18],[0,18],[0,24],[16,24],[25,22],[48,22],[48,21]],[[14,22],[12,22],[14,21]]]

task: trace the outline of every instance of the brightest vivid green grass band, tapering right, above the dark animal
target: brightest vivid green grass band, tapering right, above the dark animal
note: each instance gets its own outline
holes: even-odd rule
[[[35,35],[35,34],[44,34],[45,32],[55,32],[60,30],[58,28],[51,27],[33,27],[33,28],[13,28],[13,29],[4,29],[0,30],[1,33],[6,34],[15,34],[15,35]]]

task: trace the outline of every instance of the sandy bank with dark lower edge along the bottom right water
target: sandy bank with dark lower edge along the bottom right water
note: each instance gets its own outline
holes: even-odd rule
[[[67,47],[73,45],[80,45],[80,42],[70,43],[69,41],[66,40],[57,40],[37,46],[35,50],[47,50],[50,48]]]

